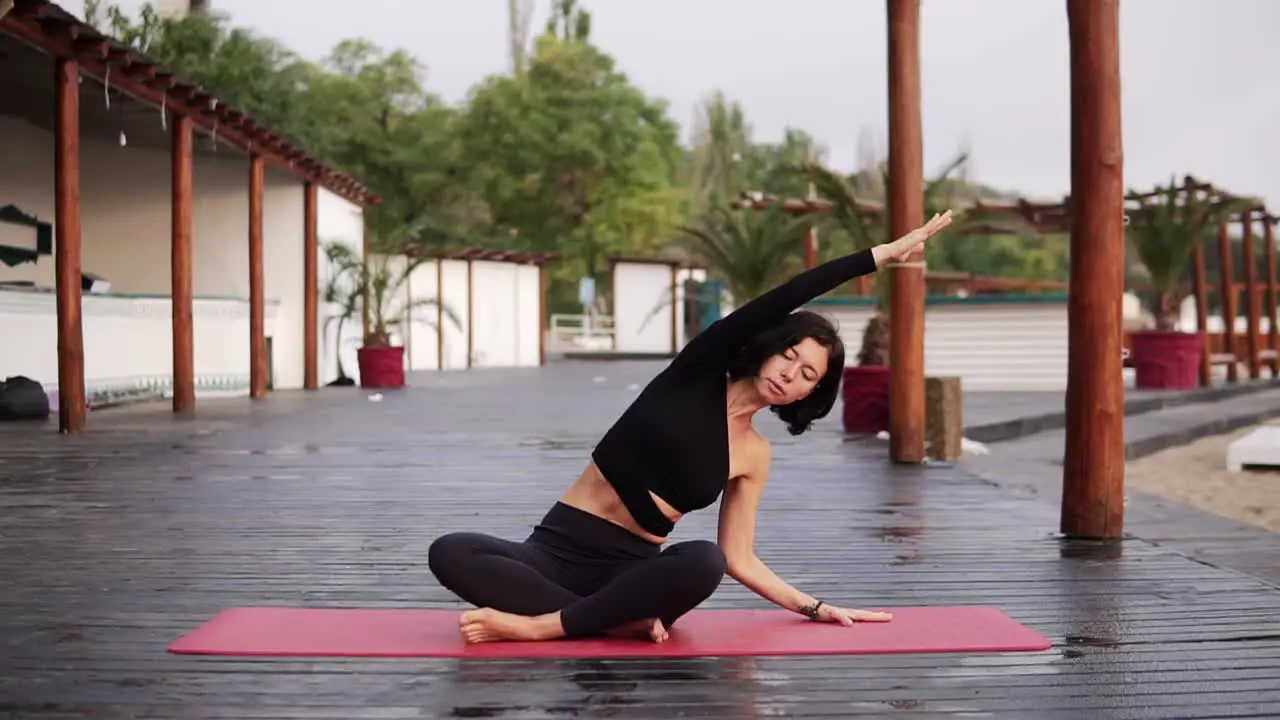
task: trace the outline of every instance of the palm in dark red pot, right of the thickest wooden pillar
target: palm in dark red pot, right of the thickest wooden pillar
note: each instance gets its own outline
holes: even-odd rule
[[[1129,363],[1139,388],[1190,389],[1199,384],[1204,346],[1198,332],[1178,329],[1187,296],[1180,279],[1196,246],[1248,201],[1188,192],[1174,181],[1147,196],[1130,192],[1125,236],[1149,292],[1140,293],[1155,328],[1129,333]]]

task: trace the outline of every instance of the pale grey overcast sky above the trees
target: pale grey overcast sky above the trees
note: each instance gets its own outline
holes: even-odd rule
[[[540,31],[552,0],[538,0]],[[119,3],[129,10],[142,0]],[[719,88],[755,138],[803,128],[852,169],[884,142],[883,0],[581,0],[593,37],[686,131]],[[365,37],[403,47],[448,100],[506,72],[506,0],[212,0],[307,58]],[[306,5],[302,12],[301,6]],[[65,5],[81,12],[79,0]],[[1125,181],[1196,174],[1280,208],[1280,0],[1124,0]],[[924,0],[925,173],[963,146],[975,179],[1034,196],[1070,187],[1065,0]]]

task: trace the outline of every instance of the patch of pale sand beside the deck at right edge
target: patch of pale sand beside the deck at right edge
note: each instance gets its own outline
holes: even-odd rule
[[[1267,424],[1277,425],[1280,420]],[[1252,430],[1253,427],[1202,438],[1129,462],[1125,484],[1206,512],[1280,532],[1280,471],[1226,470],[1226,446]]]

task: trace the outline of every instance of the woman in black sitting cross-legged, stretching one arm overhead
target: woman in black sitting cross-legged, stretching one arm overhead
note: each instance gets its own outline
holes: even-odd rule
[[[769,443],[751,424],[771,407],[792,434],[836,402],[845,350],[829,322],[795,310],[851,278],[906,258],[951,222],[934,215],[901,238],[805,270],[695,337],[604,434],[581,477],[521,543],[449,533],[431,573],[477,606],[468,643],[626,635],[653,642],[728,573],[812,620],[890,620],[833,607],[774,575],[753,548]],[[723,493],[718,542],[663,548],[680,518]]]

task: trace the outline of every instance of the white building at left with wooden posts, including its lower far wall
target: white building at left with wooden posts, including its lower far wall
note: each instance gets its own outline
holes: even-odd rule
[[[376,201],[52,3],[0,17],[0,379],[38,380],[63,432],[122,395],[186,411],[206,393],[316,389],[339,354],[356,375],[361,323],[338,338],[326,322],[321,249],[362,256]],[[544,260],[440,261],[462,268],[442,287],[466,336],[419,331],[406,365],[540,364]],[[463,355],[428,363],[428,343]]]

